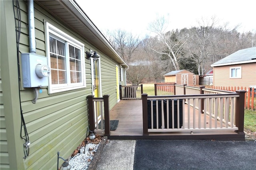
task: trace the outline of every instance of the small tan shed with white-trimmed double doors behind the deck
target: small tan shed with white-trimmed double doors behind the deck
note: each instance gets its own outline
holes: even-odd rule
[[[188,70],[174,70],[164,74],[164,82],[177,84],[199,84],[199,76]]]

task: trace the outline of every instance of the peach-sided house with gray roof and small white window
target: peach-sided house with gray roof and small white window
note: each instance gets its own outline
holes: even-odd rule
[[[214,86],[256,85],[256,47],[238,50],[211,66]]]

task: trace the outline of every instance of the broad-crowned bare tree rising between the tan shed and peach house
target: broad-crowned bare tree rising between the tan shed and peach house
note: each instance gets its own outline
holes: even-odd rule
[[[210,66],[206,64],[210,56],[225,55],[220,51],[222,40],[236,31],[236,27],[231,31],[226,29],[226,25],[216,27],[217,22],[215,17],[210,21],[202,19],[201,22],[198,21],[199,27],[189,29],[186,55],[196,64],[199,75],[203,75],[206,72],[205,67]]]

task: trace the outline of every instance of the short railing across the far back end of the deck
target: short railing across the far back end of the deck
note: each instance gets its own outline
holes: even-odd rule
[[[143,85],[140,86],[119,86],[120,100],[141,99],[143,93]]]

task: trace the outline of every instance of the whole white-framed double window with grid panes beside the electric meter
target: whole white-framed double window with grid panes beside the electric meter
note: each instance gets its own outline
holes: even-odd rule
[[[84,88],[84,44],[46,23],[46,43],[49,76],[49,92],[63,92]]]

